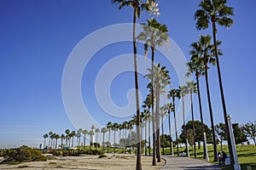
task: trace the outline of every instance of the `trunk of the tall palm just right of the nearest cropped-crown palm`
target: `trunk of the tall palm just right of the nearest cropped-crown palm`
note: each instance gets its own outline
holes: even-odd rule
[[[156,150],[155,150],[155,116],[154,116],[154,48],[151,47],[151,104],[152,104],[152,128],[153,128],[153,160],[152,165],[156,166]]]

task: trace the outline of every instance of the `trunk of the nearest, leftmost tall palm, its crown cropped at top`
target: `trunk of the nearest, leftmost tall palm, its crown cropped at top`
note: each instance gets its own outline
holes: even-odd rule
[[[136,108],[137,108],[137,166],[136,170],[142,170],[142,145],[141,145],[141,132],[140,132],[140,102],[138,95],[138,77],[137,77],[137,42],[136,42],[136,24],[137,24],[137,8],[138,8],[138,0],[134,0],[133,7],[133,31],[132,31],[132,39],[133,39],[133,54],[134,54],[134,77],[135,77],[135,88],[136,88]]]

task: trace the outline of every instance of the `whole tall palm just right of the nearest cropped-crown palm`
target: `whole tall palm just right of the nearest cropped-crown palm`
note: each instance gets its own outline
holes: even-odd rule
[[[151,71],[154,75],[154,52],[156,46],[163,46],[166,42],[169,43],[168,29],[166,25],[161,25],[157,20],[147,20],[148,24],[142,24],[143,32],[141,32],[137,39],[144,42],[145,54],[148,54],[148,46],[151,48]],[[151,86],[154,87],[154,77],[151,77]],[[152,165],[156,165],[154,142],[155,142],[155,125],[154,125],[154,88],[151,88],[151,104],[152,104],[152,124],[153,124],[153,161]]]

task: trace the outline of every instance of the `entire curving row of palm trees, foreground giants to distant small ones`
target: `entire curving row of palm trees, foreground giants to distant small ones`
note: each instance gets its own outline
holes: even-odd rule
[[[230,156],[231,156],[231,164],[233,162],[232,160],[232,150],[231,150],[231,144],[230,144],[230,132],[229,128],[227,127],[227,111],[225,107],[225,101],[224,101],[224,89],[222,86],[222,78],[221,78],[221,71],[220,71],[220,65],[218,60],[218,55],[222,54],[221,51],[218,49],[218,46],[220,45],[220,42],[217,41],[217,27],[216,24],[220,26],[229,27],[233,24],[233,20],[229,18],[230,15],[233,15],[233,8],[226,6],[227,1],[226,0],[202,0],[199,4],[199,9],[195,12],[195,20],[196,20],[196,28],[198,30],[201,29],[207,29],[208,25],[212,24],[212,36],[213,36],[213,43],[211,43],[212,38],[210,36],[200,36],[200,40],[198,42],[194,42],[191,44],[191,59],[188,63],[189,67],[189,73],[195,73],[196,77],[196,83],[194,82],[188,82],[187,83],[187,92],[184,90],[184,88],[181,86],[180,89],[172,89],[170,92],[166,93],[165,88],[168,86],[171,82],[171,77],[169,76],[169,71],[166,70],[165,66],[161,66],[160,64],[154,65],[154,54],[156,46],[162,46],[164,43],[168,44],[168,36],[167,32],[168,29],[165,25],[161,25],[157,22],[154,18],[152,20],[147,20],[147,24],[142,24],[143,26],[143,32],[139,34],[137,37],[136,33],[136,24],[137,24],[137,18],[140,17],[141,11],[143,9],[147,11],[152,11],[152,7],[155,7],[155,1],[154,0],[148,0],[146,3],[143,3],[143,0],[132,0],[132,1],[125,1],[125,0],[112,0],[112,3],[119,3],[119,9],[123,8],[124,6],[129,6],[133,8],[133,54],[134,54],[134,68],[135,68],[135,88],[136,88],[136,103],[137,103],[137,114],[133,117],[131,122],[131,127],[133,127],[134,124],[136,124],[137,129],[137,170],[142,169],[142,148],[141,148],[141,141],[142,141],[142,129],[143,124],[146,129],[146,124],[149,122],[150,112],[151,114],[151,120],[152,120],[152,135],[153,135],[153,161],[152,165],[156,165],[156,158],[157,161],[161,160],[161,154],[160,154],[160,112],[162,114],[162,118],[166,113],[166,109],[162,109],[160,111],[160,94],[168,94],[170,98],[172,98],[172,105],[166,104],[167,113],[169,116],[169,133],[171,132],[171,117],[170,112],[173,111],[174,116],[174,126],[175,126],[175,135],[176,135],[176,141],[177,141],[177,155],[179,154],[178,150],[178,139],[177,139],[177,123],[176,123],[176,109],[175,109],[175,99],[179,99],[180,97],[183,99],[184,95],[186,93],[190,94],[190,100],[191,100],[191,115],[192,115],[192,121],[194,122],[194,110],[193,110],[193,94],[197,92],[199,104],[200,104],[200,112],[201,112],[201,124],[203,125],[203,116],[201,111],[201,97],[200,97],[200,81],[199,77],[202,75],[205,76],[206,80],[206,86],[207,86],[207,101],[208,101],[208,107],[209,107],[209,113],[211,117],[211,124],[212,124],[212,143],[214,148],[214,161],[217,161],[217,147],[216,147],[216,139],[215,139],[215,133],[214,133],[214,123],[213,123],[213,113],[212,113],[212,104],[211,104],[211,96],[210,96],[210,88],[209,88],[209,81],[208,81],[208,68],[209,64],[214,64],[216,62],[217,68],[218,68],[218,82],[219,82],[219,88],[220,88],[220,94],[221,94],[221,100],[223,104],[224,109],[224,121],[226,125],[226,132],[228,136],[228,142],[229,142],[229,149],[230,149]],[[147,96],[147,99],[145,100],[144,104],[149,103],[143,107],[144,111],[140,111],[140,105],[139,105],[139,98],[138,98],[138,76],[137,76],[137,40],[144,42],[144,48],[145,48],[145,54],[148,54],[148,48],[151,49],[151,69],[148,69],[149,74],[146,76],[150,80],[148,83],[149,88],[149,94]],[[183,104],[184,105],[184,104]],[[147,118],[144,118],[142,120],[142,117],[145,117],[147,115]],[[162,119],[163,122],[163,119]],[[185,123],[184,120],[184,112],[183,112],[183,124]],[[108,122],[107,127],[104,127],[105,129],[102,130],[103,133],[103,141],[104,141],[104,135],[107,132],[108,129],[108,142],[110,142],[110,132],[113,131],[113,144],[115,144],[116,139],[116,131],[119,129],[119,139],[121,136],[121,129],[124,123],[122,123],[121,126],[119,126],[118,123],[111,123]],[[150,123],[148,123],[148,133],[150,133]],[[193,127],[194,128],[194,127]],[[126,129],[128,127],[124,127],[125,131],[123,130],[123,133],[126,132]],[[162,133],[164,129],[162,127]],[[97,130],[97,133],[99,133],[100,130]],[[203,126],[202,126],[202,133],[204,132]],[[66,139],[66,145],[70,146],[72,141],[72,147],[73,147],[73,141],[74,137],[77,137],[77,145],[80,145],[80,137],[81,133],[84,134],[84,146],[85,146],[85,135],[88,133],[85,130],[79,129],[76,133],[75,131],[70,131],[67,129],[65,132],[65,139]],[[89,134],[94,133],[93,131]],[[146,134],[146,131],[145,131]],[[53,147],[57,145],[57,140],[60,138],[54,133],[49,133],[49,146]],[[45,140],[47,138],[47,135],[44,135],[44,145]],[[64,135],[64,134],[63,134]],[[195,133],[194,133],[195,135]],[[62,135],[61,135],[62,136]],[[150,136],[148,134],[148,136]],[[125,137],[125,136],[124,136]],[[97,139],[97,137],[96,137]],[[149,138],[150,139],[150,138]],[[148,141],[149,141],[148,139]],[[194,138],[195,139],[195,138]],[[64,140],[64,137],[63,137]],[[61,145],[62,145],[62,139],[61,139]],[[104,142],[103,142],[104,144]],[[150,144],[150,143],[149,143]],[[195,144],[195,141],[194,141]],[[186,144],[187,145],[187,144]],[[194,147],[195,148],[195,147]],[[206,144],[204,144],[204,149],[206,148]],[[150,151],[150,150],[149,150]],[[196,150],[194,150],[195,156],[196,156]],[[206,154],[206,152],[204,151]],[[204,155],[205,155],[204,154]]]

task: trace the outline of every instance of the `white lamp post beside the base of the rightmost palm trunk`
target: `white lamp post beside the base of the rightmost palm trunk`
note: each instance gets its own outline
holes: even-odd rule
[[[235,137],[234,137],[234,133],[233,133],[233,127],[232,127],[230,115],[227,118],[228,118],[228,125],[229,125],[229,129],[230,129],[231,147],[232,147],[233,156],[234,156],[234,169],[241,170],[241,167],[238,162],[237,155],[236,155],[236,143],[235,143]]]

